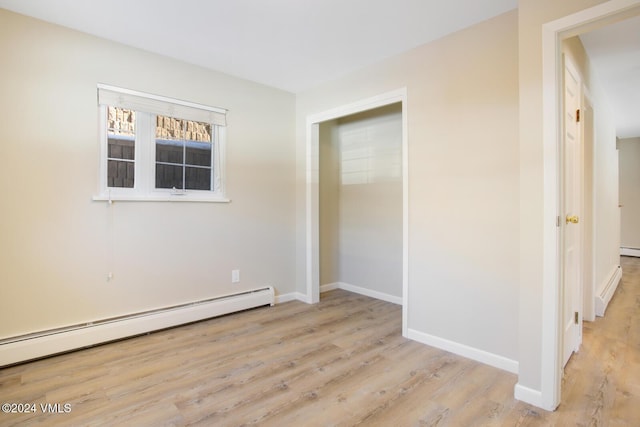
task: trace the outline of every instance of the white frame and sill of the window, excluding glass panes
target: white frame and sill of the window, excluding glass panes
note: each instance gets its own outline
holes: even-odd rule
[[[169,202],[229,202],[225,191],[225,145],[226,126],[211,122],[212,151],[212,190],[174,190],[155,187],[156,174],[156,116],[166,115],[176,117],[188,112],[202,110],[202,114],[213,112],[217,120],[226,116],[226,110],[208,107],[200,104],[180,101],[176,99],[145,94],[114,86],[98,85],[98,91],[105,91],[111,95],[122,94],[120,101],[109,102],[99,100],[100,126],[100,190],[93,196],[96,201],[169,201]],[[103,92],[104,93],[104,92]],[[100,95],[99,95],[100,97]],[[134,99],[133,105],[130,100]],[[144,111],[145,101],[150,103],[149,110]],[[129,101],[129,104],[127,102]],[[116,104],[116,105],[113,105]],[[131,109],[136,112],[135,149],[134,149],[134,186],[133,188],[109,187],[107,183],[108,166],[108,137],[107,137],[107,106]],[[165,108],[166,112],[158,113],[158,108]],[[194,110],[195,109],[195,110]],[[178,111],[176,111],[178,110]],[[176,111],[176,112],[174,112]],[[198,111],[196,111],[198,112]],[[225,116],[221,116],[225,115]],[[191,117],[176,117],[190,120]],[[202,119],[198,119],[202,121]]]

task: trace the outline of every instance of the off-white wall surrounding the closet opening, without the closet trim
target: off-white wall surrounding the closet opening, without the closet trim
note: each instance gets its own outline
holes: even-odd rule
[[[517,12],[297,97],[297,269],[305,292],[306,117],[407,88],[408,327],[518,359]]]

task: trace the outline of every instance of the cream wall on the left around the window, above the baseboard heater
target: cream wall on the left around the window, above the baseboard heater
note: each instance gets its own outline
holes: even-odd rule
[[[294,95],[5,10],[0,56],[0,338],[295,290]],[[93,202],[97,83],[228,108],[232,202]]]

